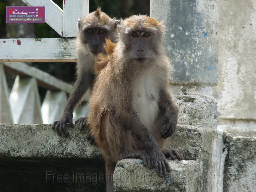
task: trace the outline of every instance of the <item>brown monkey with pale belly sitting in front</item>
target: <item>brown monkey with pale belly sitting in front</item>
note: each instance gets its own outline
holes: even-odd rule
[[[141,158],[160,176],[170,171],[166,157],[182,159],[177,150],[163,152],[179,110],[168,92],[164,26],[134,15],[117,28],[117,44],[107,42],[110,54],[99,54],[97,65],[105,67],[96,78],[88,115],[92,137],[105,159],[107,191],[113,191],[112,174],[120,159]]]

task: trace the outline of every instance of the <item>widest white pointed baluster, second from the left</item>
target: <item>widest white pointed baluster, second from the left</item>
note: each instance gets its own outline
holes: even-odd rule
[[[36,79],[17,76],[9,97],[14,124],[40,124],[41,103]]]

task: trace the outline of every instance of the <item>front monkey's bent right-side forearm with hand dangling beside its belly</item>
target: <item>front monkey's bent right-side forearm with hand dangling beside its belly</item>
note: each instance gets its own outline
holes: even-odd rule
[[[160,111],[165,113],[162,123],[165,127],[161,130],[160,134],[161,138],[166,139],[172,136],[176,130],[179,108],[166,90],[160,91],[159,108]]]

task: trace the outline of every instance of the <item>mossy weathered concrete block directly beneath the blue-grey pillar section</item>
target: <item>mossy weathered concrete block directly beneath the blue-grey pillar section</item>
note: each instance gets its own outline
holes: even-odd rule
[[[217,102],[212,96],[174,95],[179,106],[178,124],[217,129]]]

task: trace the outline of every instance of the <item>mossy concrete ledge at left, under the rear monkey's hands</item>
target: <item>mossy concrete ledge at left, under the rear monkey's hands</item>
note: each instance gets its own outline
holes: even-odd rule
[[[87,141],[87,130],[74,127],[69,133],[59,137],[49,124],[0,124],[0,157],[102,158]]]

